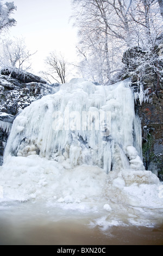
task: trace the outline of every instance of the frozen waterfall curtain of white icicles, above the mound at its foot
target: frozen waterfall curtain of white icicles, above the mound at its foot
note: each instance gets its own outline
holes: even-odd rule
[[[10,155],[39,155],[67,169],[144,170],[130,80],[96,86],[73,79],[33,102],[14,120],[4,161]]]

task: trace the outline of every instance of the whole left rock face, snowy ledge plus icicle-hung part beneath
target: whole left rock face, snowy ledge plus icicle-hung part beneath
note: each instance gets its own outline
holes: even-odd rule
[[[30,73],[18,74],[2,70],[0,75],[0,165],[7,138],[15,116],[42,96],[54,92],[58,84],[49,85]]]

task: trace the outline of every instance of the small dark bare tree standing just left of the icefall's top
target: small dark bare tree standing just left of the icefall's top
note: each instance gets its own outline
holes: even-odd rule
[[[46,72],[41,72],[41,74],[46,78],[49,83],[52,83],[52,80],[58,83],[66,82],[66,61],[61,53],[57,54],[56,52],[49,53],[49,56],[46,58],[45,63],[47,65]]]

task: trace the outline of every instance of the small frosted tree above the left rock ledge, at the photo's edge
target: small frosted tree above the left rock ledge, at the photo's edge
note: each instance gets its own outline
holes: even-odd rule
[[[31,68],[30,57],[35,53],[30,53],[23,38],[5,39],[1,49],[1,69],[20,73]]]

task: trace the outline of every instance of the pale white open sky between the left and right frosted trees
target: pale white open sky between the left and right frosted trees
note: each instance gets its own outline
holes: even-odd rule
[[[44,59],[49,52],[61,52],[67,62],[76,59],[77,29],[69,22],[71,0],[13,0],[17,6],[12,17],[17,21],[10,28],[11,36],[22,36],[30,52],[34,74],[45,71]],[[8,1],[11,2],[11,1]]]

